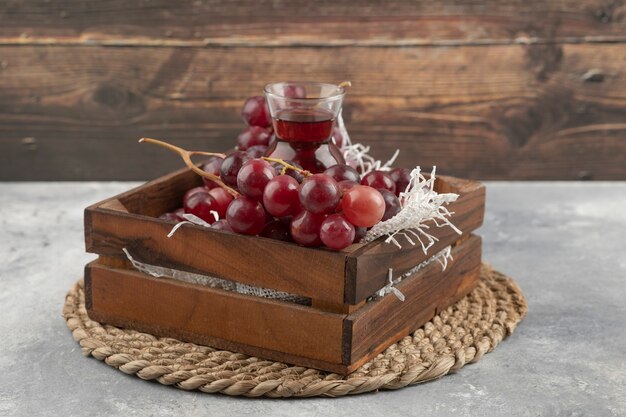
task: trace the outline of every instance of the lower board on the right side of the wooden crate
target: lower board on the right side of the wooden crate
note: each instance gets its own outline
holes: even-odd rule
[[[356,369],[387,346],[418,329],[438,311],[452,305],[480,278],[481,239],[471,236],[452,250],[453,260],[444,272],[433,262],[397,285],[406,297],[393,295],[368,303],[346,318],[352,346],[345,363]]]

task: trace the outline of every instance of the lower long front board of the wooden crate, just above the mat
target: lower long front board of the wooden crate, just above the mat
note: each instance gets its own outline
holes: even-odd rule
[[[341,365],[344,315],[96,263],[85,281],[97,321],[275,360]]]

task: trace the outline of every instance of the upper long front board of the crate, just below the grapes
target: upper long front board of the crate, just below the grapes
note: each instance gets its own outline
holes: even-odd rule
[[[343,305],[345,253],[195,225],[168,238],[173,224],[159,219],[98,208],[85,215],[88,252],[124,256],[126,248],[146,263]]]

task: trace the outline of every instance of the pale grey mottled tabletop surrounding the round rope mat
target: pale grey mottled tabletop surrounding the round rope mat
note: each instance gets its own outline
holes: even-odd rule
[[[626,415],[626,183],[488,183],[484,258],[530,311],[479,363],[399,391],[270,400],[184,392],[84,358],[61,316],[94,258],[83,208],[130,183],[0,183],[1,416]]]

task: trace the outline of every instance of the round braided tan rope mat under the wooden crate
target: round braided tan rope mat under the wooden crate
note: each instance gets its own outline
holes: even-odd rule
[[[87,316],[82,280],[67,294],[63,316],[85,356],[142,379],[248,397],[337,397],[398,389],[457,371],[513,333],[527,309],[515,282],[483,265],[472,293],[347,377],[102,326]]]

